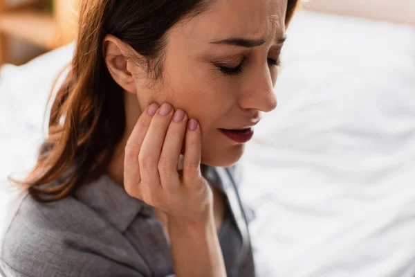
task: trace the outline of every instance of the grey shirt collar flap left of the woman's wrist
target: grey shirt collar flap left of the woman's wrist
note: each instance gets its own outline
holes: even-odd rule
[[[118,231],[124,232],[138,215],[152,217],[154,208],[127,194],[122,186],[108,175],[75,190],[74,196],[108,220]]]

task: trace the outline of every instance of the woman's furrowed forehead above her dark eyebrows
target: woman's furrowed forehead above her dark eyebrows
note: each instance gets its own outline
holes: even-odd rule
[[[187,39],[284,37],[287,0],[217,0],[181,25]]]

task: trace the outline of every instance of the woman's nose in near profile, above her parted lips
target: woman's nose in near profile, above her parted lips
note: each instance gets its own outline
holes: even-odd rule
[[[268,66],[252,71],[243,80],[239,106],[243,109],[256,109],[259,111],[272,111],[277,107],[277,96],[274,93],[273,80]]]

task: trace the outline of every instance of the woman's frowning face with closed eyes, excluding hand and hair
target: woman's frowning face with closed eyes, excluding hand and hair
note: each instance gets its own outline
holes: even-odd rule
[[[151,102],[184,109],[201,125],[202,163],[236,163],[244,143],[221,129],[253,125],[261,112],[275,109],[286,6],[287,0],[219,0],[176,24],[168,34],[161,85],[151,89],[136,75],[140,110]]]

